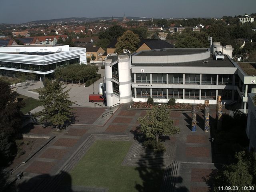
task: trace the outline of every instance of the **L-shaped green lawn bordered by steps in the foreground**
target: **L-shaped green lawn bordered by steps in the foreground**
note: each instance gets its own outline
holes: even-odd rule
[[[72,184],[109,188],[109,192],[157,192],[162,169],[121,165],[131,144],[96,140],[70,172]]]

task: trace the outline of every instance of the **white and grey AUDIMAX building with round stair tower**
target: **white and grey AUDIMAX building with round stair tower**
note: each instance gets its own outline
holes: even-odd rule
[[[256,76],[248,75],[232,56],[232,46],[219,42],[210,48],[169,48],[110,55],[105,61],[107,106],[130,101],[216,104],[216,96],[241,103],[256,91]],[[221,50],[221,51],[220,51]]]

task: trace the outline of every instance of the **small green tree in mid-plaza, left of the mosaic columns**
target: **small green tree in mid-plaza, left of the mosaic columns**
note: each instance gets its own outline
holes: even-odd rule
[[[138,118],[140,132],[146,138],[153,138],[158,145],[159,137],[162,135],[178,134],[180,129],[174,126],[173,120],[169,119],[170,110],[167,105],[153,106],[144,118]]]

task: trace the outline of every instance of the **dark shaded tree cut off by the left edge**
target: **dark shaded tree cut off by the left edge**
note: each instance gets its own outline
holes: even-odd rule
[[[0,78],[0,167],[16,154],[16,134],[20,128],[22,103],[16,102],[18,94],[12,92],[9,83]]]

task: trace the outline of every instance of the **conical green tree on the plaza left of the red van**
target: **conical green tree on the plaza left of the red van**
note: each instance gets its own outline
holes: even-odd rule
[[[44,109],[36,116],[40,121],[53,126],[56,130],[65,128],[72,120],[71,105],[68,100],[69,90],[64,91],[63,84],[59,81],[44,80],[44,90],[39,91],[39,100]]]

